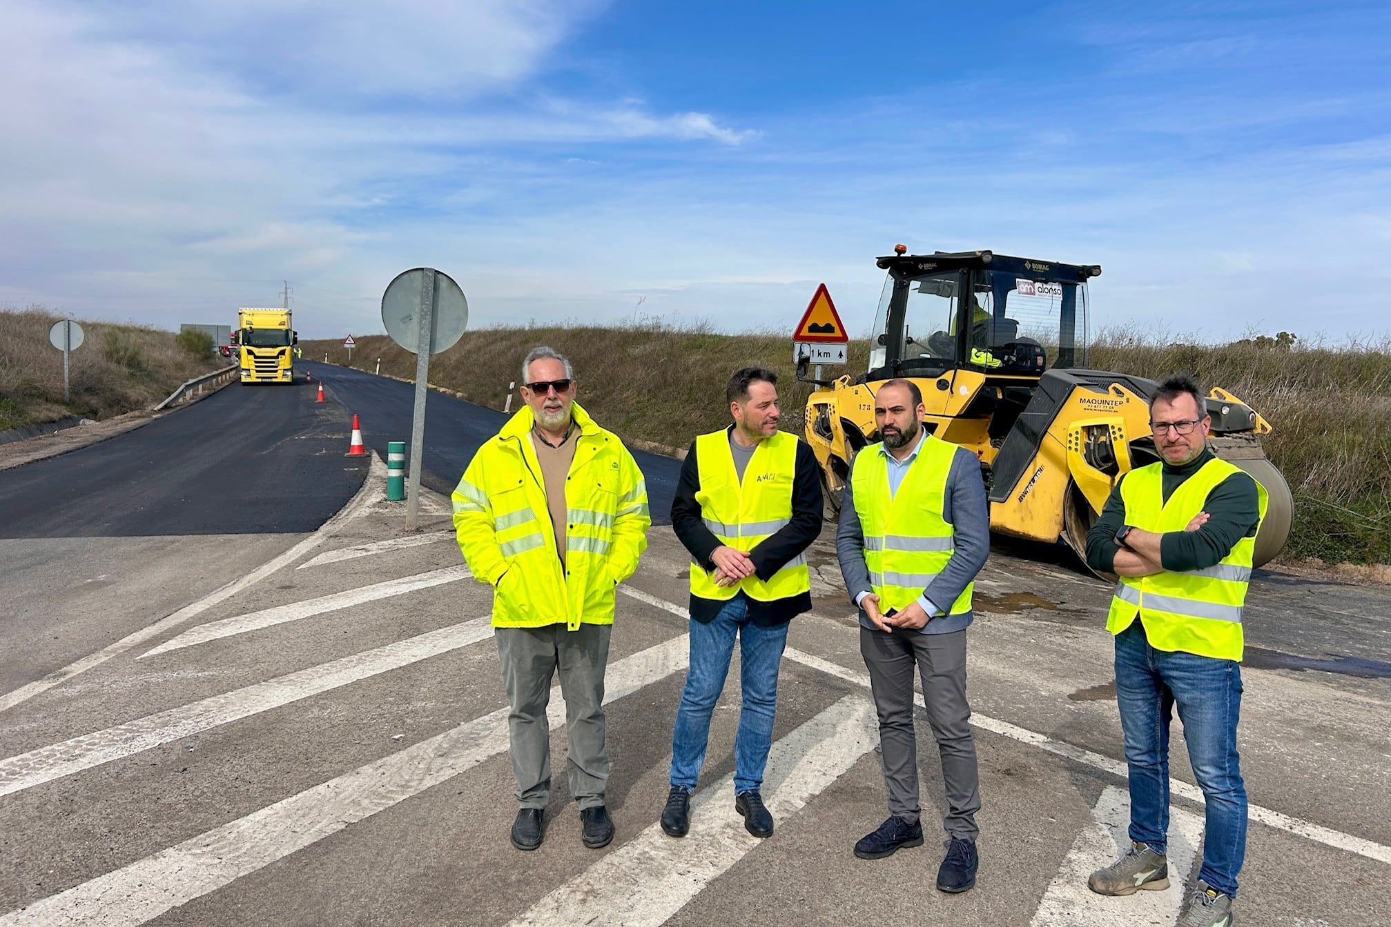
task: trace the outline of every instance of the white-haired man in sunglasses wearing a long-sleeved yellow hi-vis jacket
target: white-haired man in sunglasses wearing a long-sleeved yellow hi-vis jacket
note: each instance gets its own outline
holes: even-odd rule
[[[551,798],[547,703],[559,670],[570,795],[580,837],[613,839],[604,805],[604,668],[613,589],[647,548],[647,486],[623,442],[574,402],[570,361],[536,347],[522,364],[526,404],[469,463],[453,527],[469,570],[494,586],[492,627],[510,714],[517,816],[512,845],[536,849]]]

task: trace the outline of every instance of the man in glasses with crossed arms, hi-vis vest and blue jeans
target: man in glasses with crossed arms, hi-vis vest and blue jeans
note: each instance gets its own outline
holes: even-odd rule
[[[1131,799],[1131,846],[1088,885],[1102,895],[1168,887],[1168,724],[1177,705],[1207,809],[1203,864],[1178,923],[1227,927],[1246,852],[1237,755],[1241,618],[1267,496],[1207,449],[1212,418],[1191,378],[1160,385],[1150,428],[1160,461],[1124,474],[1086,535],[1088,564],[1120,577],[1106,630],[1116,637]]]

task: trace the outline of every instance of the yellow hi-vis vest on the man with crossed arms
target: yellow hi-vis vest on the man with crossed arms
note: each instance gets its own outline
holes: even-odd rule
[[[1125,524],[1164,534],[1182,531],[1203,510],[1207,493],[1241,470],[1217,457],[1185,479],[1168,502],[1163,495],[1163,464],[1132,470],[1121,482]],[[1256,481],[1260,521],[1270,496]],[[1257,531],[1260,523],[1256,523]],[[1225,557],[1206,570],[1156,573],[1149,577],[1120,577],[1106,630],[1120,634],[1135,616],[1156,650],[1184,650],[1219,660],[1241,660],[1244,634],[1242,606],[1251,581],[1256,538],[1242,538]]]

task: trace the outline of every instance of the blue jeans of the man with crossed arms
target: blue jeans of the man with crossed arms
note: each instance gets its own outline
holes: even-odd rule
[[[1237,896],[1246,856],[1246,785],[1237,755],[1241,664],[1149,645],[1139,618],[1116,635],[1116,702],[1129,766],[1132,841],[1163,853],[1168,832],[1168,721],[1178,706],[1207,832],[1198,877]]]

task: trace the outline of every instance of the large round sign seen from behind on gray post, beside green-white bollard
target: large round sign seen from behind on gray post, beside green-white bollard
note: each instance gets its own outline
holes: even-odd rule
[[[398,274],[387,286],[381,296],[381,322],[391,341],[416,354],[416,407],[410,417],[410,473],[406,481],[406,531],[415,531],[420,514],[430,354],[449,350],[463,336],[469,325],[469,300],[448,274],[433,267],[416,267]]]

